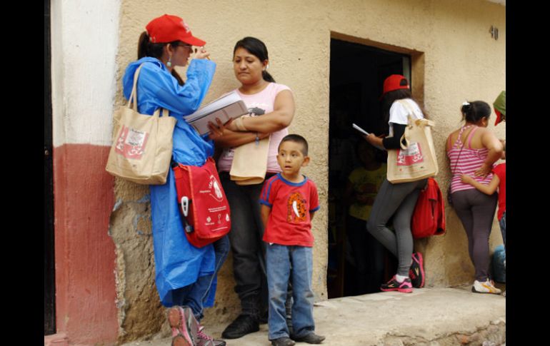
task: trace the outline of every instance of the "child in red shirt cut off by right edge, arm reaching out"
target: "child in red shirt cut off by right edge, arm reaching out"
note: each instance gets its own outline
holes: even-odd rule
[[[506,160],[506,141],[501,140],[501,142],[504,145],[501,158]],[[496,217],[499,218],[502,240],[506,249],[506,162],[496,165],[493,168],[493,173],[493,178],[489,182],[489,185],[480,184],[474,178],[465,174],[461,175],[460,179],[462,183],[468,183],[486,195],[492,195],[496,191],[496,188],[499,188],[499,213],[496,214]],[[504,261],[504,267],[506,267],[506,261]],[[506,297],[506,291],[504,292],[504,296]]]

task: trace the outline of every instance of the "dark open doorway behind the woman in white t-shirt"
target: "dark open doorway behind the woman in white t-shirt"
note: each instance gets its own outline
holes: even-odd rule
[[[359,196],[353,188],[355,185],[357,190],[357,184],[348,185],[351,180],[363,179],[361,169],[378,172],[377,179],[385,176],[386,153],[365,145],[352,123],[376,135],[388,134],[379,97],[384,79],[391,74],[404,75],[412,85],[411,56],[331,39],[329,298],[379,292],[380,284],[396,270],[394,256],[365,228],[366,205],[371,205],[376,191],[371,191],[369,184],[368,193]]]

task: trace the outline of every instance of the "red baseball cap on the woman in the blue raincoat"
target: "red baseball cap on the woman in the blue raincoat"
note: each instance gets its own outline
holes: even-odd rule
[[[167,44],[173,41],[182,41],[191,46],[204,46],[205,41],[197,39],[191,34],[191,29],[179,16],[164,14],[149,21],[145,27],[151,43]]]

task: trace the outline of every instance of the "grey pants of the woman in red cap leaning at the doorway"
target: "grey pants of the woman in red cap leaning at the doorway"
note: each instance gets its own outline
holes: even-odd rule
[[[366,224],[371,235],[399,260],[398,275],[409,276],[413,252],[411,217],[420,190],[426,186],[427,181],[428,179],[422,179],[392,184],[384,179],[372,205],[369,222]],[[387,227],[392,216],[395,233]]]

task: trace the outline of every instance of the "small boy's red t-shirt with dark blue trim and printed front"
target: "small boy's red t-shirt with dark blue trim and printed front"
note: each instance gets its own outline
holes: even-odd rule
[[[319,210],[313,181],[304,175],[301,183],[291,183],[278,173],[264,183],[260,203],[271,208],[264,232],[266,243],[313,246],[309,213]]]

